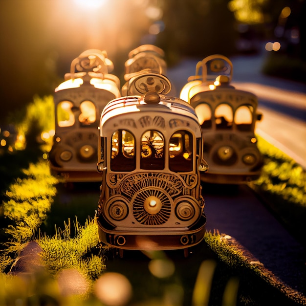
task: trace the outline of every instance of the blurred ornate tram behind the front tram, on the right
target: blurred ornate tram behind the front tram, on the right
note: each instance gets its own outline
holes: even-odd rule
[[[200,70],[202,74],[200,75]],[[254,134],[257,97],[230,85],[232,63],[222,55],[198,62],[196,76],[188,79],[180,98],[189,102],[199,119],[209,170],[202,181],[241,184],[261,174],[262,155]]]

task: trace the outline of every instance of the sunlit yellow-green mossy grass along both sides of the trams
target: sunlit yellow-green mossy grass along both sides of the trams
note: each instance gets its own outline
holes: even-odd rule
[[[49,105],[48,99],[35,103]],[[203,245],[212,252],[213,260],[200,259],[202,263],[195,272],[196,283],[188,284],[192,289],[182,285],[179,275],[156,274],[156,270],[150,270],[149,288],[153,292],[153,283],[156,283],[158,288],[164,288],[163,294],[156,297],[154,292],[150,296],[149,290],[145,292],[146,300],[135,302],[133,294],[142,289],[133,287],[131,280],[122,274],[107,271],[108,253],[98,240],[94,217],[79,223],[81,218],[77,216],[71,222],[72,218],[66,219],[64,207],[62,212],[58,207],[54,213],[61,214],[62,223],[57,219],[53,224],[54,232],[44,234],[45,222],[55,220],[52,219],[52,207],[59,182],[50,175],[48,162],[44,159],[48,142],[37,142],[37,136],[44,133],[40,115],[30,113],[31,119],[23,126],[36,128],[24,131],[28,140],[25,147],[0,154],[1,177],[10,174],[0,187],[1,306],[95,306],[101,303],[109,306],[180,306],[186,305],[183,295],[188,290],[193,291],[190,303],[194,306],[306,305],[304,295],[287,287],[260,262],[252,261],[250,254],[236,241],[219,233],[205,235]],[[305,171],[263,139],[259,140],[259,147],[265,165],[262,176],[251,187],[288,228],[296,231],[296,237],[305,242],[304,237],[299,236],[305,229]],[[84,204],[83,197],[81,201]],[[95,203],[93,199],[93,205]],[[72,208],[69,205],[66,208],[69,207]],[[72,213],[78,215],[76,210]],[[36,252],[39,253],[36,261],[35,256],[22,256],[32,242],[40,250]],[[26,265],[27,260],[30,265]],[[157,271],[172,266],[170,259],[160,255],[150,258],[149,267],[156,267],[156,263],[163,267],[157,265]],[[184,264],[180,268],[185,269]]]

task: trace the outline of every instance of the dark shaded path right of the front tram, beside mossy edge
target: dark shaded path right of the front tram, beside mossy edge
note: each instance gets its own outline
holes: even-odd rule
[[[247,185],[237,190],[203,184],[206,229],[239,241],[265,268],[295,290],[306,290],[305,250]]]

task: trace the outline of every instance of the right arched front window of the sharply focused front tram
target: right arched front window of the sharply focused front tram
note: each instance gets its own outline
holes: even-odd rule
[[[193,136],[189,131],[177,131],[171,136],[169,169],[174,172],[193,170]]]

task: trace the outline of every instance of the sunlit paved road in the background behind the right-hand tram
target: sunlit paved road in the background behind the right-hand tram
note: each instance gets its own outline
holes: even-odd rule
[[[171,94],[178,96],[187,78],[195,74],[202,59],[185,59],[168,69]],[[306,169],[306,84],[265,76],[261,73],[263,55],[237,56],[233,63],[232,84],[254,92],[263,118],[256,133],[281,149]]]

